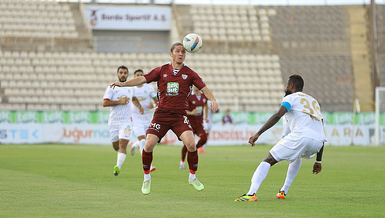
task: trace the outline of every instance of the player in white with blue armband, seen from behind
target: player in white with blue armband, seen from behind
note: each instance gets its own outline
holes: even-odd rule
[[[285,115],[290,133],[281,139],[259,164],[251,179],[249,192],[238,197],[235,201],[257,201],[256,193],[266,178],[270,167],[282,160],[287,160],[290,164],[285,184],[277,194],[279,199],[285,199],[289,187],[301,167],[301,158],[311,158],[317,153],[313,174],[321,172],[323,145],[326,141],[323,118],[317,100],[303,93],[303,86],[304,81],[300,75],[291,75],[287,81],[286,96],[282,100],[279,111],[271,116],[257,133],[250,137],[249,143],[254,146],[259,136]]]

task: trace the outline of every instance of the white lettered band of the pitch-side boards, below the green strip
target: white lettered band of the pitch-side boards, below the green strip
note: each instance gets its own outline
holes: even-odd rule
[[[247,145],[249,137],[262,125],[222,125],[214,124],[209,135],[208,145]],[[384,131],[384,127],[381,127]],[[373,125],[326,125],[328,145],[348,146],[372,145],[374,143]],[[266,131],[258,140],[261,144],[274,145],[282,137],[282,126],[277,125]],[[135,140],[135,136],[132,136]],[[171,131],[162,139],[162,143],[181,145]],[[107,124],[0,124],[0,143],[71,143],[109,145],[110,132]]]

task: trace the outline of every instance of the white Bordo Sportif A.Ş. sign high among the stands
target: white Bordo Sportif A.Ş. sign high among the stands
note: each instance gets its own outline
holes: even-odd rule
[[[85,6],[94,30],[170,30],[172,13],[168,6]]]

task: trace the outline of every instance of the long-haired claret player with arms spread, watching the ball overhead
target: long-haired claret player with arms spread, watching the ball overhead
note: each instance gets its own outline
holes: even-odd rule
[[[211,107],[215,111],[218,108],[218,104],[202,78],[184,64],[186,50],[182,43],[177,42],[171,46],[170,56],[172,59],[170,63],[157,67],[142,77],[134,78],[126,82],[116,81],[110,85],[111,87],[137,86],[143,83],[157,81],[158,108],[147,130],[146,144],[142,154],[144,171],[143,194],[150,193],[152,151],[156,143],[163,138],[169,129],[171,129],[187,147],[187,161],[190,169],[189,184],[198,191],[204,189],[203,184],[199,182],[195,174],[198,169],[198,153],[195,146],[194,134],[185,110],[187,107],[187,98],[191,94],[192,85],[195,85],[211,100]]]

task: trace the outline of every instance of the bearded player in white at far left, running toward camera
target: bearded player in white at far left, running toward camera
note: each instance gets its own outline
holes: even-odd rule
[[[128,77],[128,69],[120,66],[117,70],[117,76],[120,82],[125,82]],[[133,87],[117,87],[115,89],[107,87],[103,96],[103,107],[110,107],[110,117],[108,125],[110,126],[112,147],[118,152],[114,175],[120,173],[120,169],[126,160],[127,144],[132,132],[132,102],[143,113],[144,110],[137,98],[135,98],[135,89]]]

